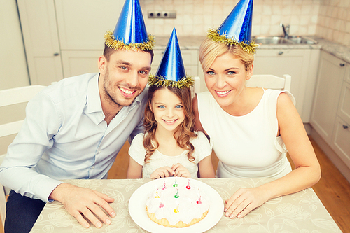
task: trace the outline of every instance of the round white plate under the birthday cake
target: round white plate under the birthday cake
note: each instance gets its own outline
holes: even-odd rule
[[[198,188],[200,188],[201,192],[205,192],[205,194],[210,199],[210,206],[208,214],[203,220],[201,220],[199,223],[196,223],[195,225],[192,225],[190,227],[183,227],[183,228],[173,228],[173,227],[165,227],[162,225],[159,225],[157,223],[154,223],[150,218],[147,216],[146,212],[146,201],[148,199],[148,194],[155,190],[156,188],[163,185],[164,180],[167,179],[167,183],[174,183],[175,177],[169,177],[169,178],[160,178],[155,181],[150,181],[148,183],[145,183],[140,188],[135,190],[135,192],[130,197],[129,201],[129,213],[132,217],[132,220],[134,220],[137,225],[144,228],[144,230],[147,230],[148,232],[205,232],[209,230],[211,227],[214,227],[216,223],[221,219],[223,216],[223,199],[221,196],[214,190],[214,188],[211,188],[206,183],[203,183],[202,181],[197,181],[194,179],[190,179],[190,183],[193,185],[196,185]],[[183,177],[176,177],[176,182],[180,185],[181,183],[187,184],[188,178]]]

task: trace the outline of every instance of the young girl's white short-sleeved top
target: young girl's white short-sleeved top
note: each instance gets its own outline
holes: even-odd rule
[[[132,144],[129,148],[129,155],[140,165],[142,168],[142,177],[150,178],[153,171],[158,169],[159,167],[170,167],[172,165],[180,163],[183,167],[186,167],[191,174],[191,178],[198,178],[198,162],[203,160],[205,157],[211,154],[211,146],[202,132],[195,132],[197,137],[194,139],[190,139],[190,142],[195,147],[195,151],[193,153],[193,157],[195,160],[191,162],[188,160],[188,150],[184,150],[183,153],[176,156],[168,156],[163,155],[158,150],[155,150],[153,155],[151,156],[151,160],[148,163],[145,163],[145,155],[146,150],[144,148],[144,134],[137,134],[132,141]]]

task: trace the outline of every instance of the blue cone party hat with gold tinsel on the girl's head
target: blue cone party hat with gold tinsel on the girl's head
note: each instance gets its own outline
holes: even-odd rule
[[[190,76],[186,76],[185,67],[181,56],[181,50],[176,29],[173,29],[172,36],[169,38],[167,48],[158,67],[157,73],[150,75],[148,84],[150,86],[158,85],[159,87],[190,87],[195,81]]]

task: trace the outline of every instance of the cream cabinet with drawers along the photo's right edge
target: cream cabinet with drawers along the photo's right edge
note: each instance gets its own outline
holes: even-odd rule
[[[350,181],[350,64],[321,52],[311,134]]]

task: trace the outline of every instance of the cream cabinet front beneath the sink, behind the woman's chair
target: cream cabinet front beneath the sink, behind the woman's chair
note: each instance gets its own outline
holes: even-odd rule
[[[283,76],[289,74],[292,76],[290,92],[295,97],[295,107],[303,122],[309,122],[304,117],[303,105],[305,90],[307,88],[307,78],[309,71],[309,59],[311,50],[263,50],[260,49],[255,55],[254,74],[273,74]]]

